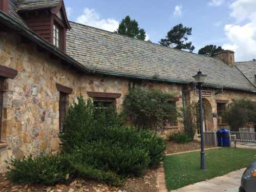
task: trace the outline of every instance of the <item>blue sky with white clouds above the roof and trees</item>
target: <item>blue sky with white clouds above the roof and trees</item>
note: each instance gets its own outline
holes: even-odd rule
[[[256,0],[65,0],[69,20],[114,31],[126,15],[158,43],[173,26],[193,28],[195,53],[205,45],[236,52],[236,61],[256,58]]]

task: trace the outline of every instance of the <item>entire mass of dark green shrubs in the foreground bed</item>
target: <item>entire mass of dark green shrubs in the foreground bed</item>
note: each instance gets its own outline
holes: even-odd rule
[[[60,139],[62,155],[13,160],[8,178],[54,184],[69,174],[121,185],[126,177],[157,165],[165,150],[155,132],[124,126],[112,107],[95,109],[91,100],[86,103],[81,97],[70,106]]]

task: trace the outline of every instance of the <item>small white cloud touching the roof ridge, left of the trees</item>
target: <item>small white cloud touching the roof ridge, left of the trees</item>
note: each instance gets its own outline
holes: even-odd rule
[[[96,27],[106,31],[115,31],[119,26],[119,22],[115,19],[101,19],[100,15],[94,9],[85,8],[83,14],[76,19],[77,23]]]

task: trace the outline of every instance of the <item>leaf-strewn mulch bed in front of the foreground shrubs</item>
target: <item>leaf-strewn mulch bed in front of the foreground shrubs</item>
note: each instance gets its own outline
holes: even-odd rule
[[[58,184],[55,186],[46,185],[28,185],[15,184],[8,181],[4,176],[0,176],[0,191],[1,192],[155,192],[158,191],[157,186],[157,172],[155,170],[148,170],[146,175],[142,178],[130,178],[122,187],[111,187],[102,183],[94,181],[74,180],[70,184]]]

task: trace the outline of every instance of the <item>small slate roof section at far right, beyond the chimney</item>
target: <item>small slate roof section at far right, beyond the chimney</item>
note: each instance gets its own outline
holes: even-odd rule
[[[236,62],[236,66],[246,76],[246,78],[256,86],[256,61]]]

